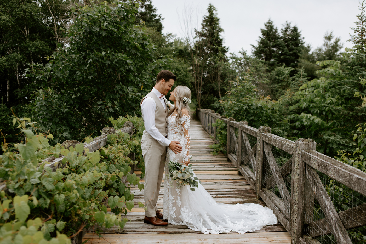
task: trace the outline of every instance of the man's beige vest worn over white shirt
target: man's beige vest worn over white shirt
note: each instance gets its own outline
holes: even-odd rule
[[[161,101],[159,100],[159,98],[152,91],[149,94],[147,94],[142,99],[142,101],[146,97],[151,97],[155,101],[155,104],[156,104],[156,108],[155,108],[155,126],[158,129],[158,131],[161,134],[163,134],[163,136],[165,136],[168,132],[168,112],[169,112],[168,111],[168,106],[164,109],[163,104],[161,104]],[[142,104],[142,101],[140,103],[140,106]],[[142,118],[143,118],[143,115],[142,115]],[[143,131],[143,136],[148,137],[148,138],[153,138],[152,136],[150,136],[149,133],[147,133],[146,129]]]

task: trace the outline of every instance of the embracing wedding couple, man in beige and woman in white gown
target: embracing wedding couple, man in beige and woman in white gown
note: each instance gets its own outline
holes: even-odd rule
[[[155,226],[187,225],[202,233],[235,231],[246,233],[274,225],[277,218],[268,207],[259,204],[216,203],[198,182],[198,188],[179,186],[169,177],[169,162],[188,165],[190,162],[190,109],[191,91],[187,86],[176,86],[169,100],[165,95],[172,89],[176,76],[162,70],[156,85],[141,101],[145,130],[141,139],[145,160],[145,223]],[[168,163],[167,163],[168,162]],[[163,213],[157,206],[160,184],[164,179]],[[194,177],[196,175],[194,174]],[[165,219],[167,222],[163,221]]]

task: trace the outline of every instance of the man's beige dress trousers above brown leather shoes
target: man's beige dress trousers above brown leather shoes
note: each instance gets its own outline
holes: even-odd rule
[[[159,198],[160,184],[163,180],[165,156],[167,147],[164,147],[157,140],[142,136],[141,149],[145,161],[145,207],[147,217],[156,216],[158,210],[156,203]]]

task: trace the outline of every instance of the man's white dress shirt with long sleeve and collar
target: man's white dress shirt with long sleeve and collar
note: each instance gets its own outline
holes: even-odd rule
[[[159,98],[161,96],[161,93],[155,88],[153,88],[152,91],[158,97],[161,104],[163,104],[163,107],[167,108],[164,97]],[[155,126],[155,110],[156,103],[154,99],[152,97],[146,97],[141,104],[141,112],[144,118],[145,130],[161,145],[163,145],[164,147],[168,147],[171,141],[165,138],[166,135],[161,134]]]

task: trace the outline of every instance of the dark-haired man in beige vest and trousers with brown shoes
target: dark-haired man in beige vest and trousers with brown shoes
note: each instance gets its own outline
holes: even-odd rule
[[[163,214],[156,206],[161,180],[163,179],[167,147],[176,154],[182,151],[178,141],[169,141],[168,108],[165,95],[172,89],[177,78],[169,70],[162,70],[156,77],[156,84],[141,101],[142,118],[145,130],[141,138],[141,149],[145,161],[145,223],[155,226],[167,226],[162,221]]]

